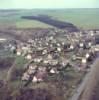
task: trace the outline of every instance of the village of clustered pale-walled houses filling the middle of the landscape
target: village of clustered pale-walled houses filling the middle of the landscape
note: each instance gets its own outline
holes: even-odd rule
[[[63,34],[59,34],[62,33]],[[58,75],[68,68],[90,71],[90,65],[98,56],[99,31],[66,33],[55,30],[50,36],[32,38],[26,42],[10,42],[4,49],[29,61],[21,80],[38,83],[50,75]],[[66,34],[65,34],[66,33]],[[0,41],[6,41],[0,39]]]

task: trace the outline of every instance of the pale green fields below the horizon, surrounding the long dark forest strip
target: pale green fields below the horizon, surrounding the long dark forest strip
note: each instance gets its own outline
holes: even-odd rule
[[[0,12],[0,15],[0,24],[4,24],[6,22],[4,25],[10,25],[10,27],[49,28],[52,26],[35,20],[21,19],[21,16],[48,15],[53,19],[70,22],[81,29],[99,28],[99,9],[15,10],[9,12]]]

